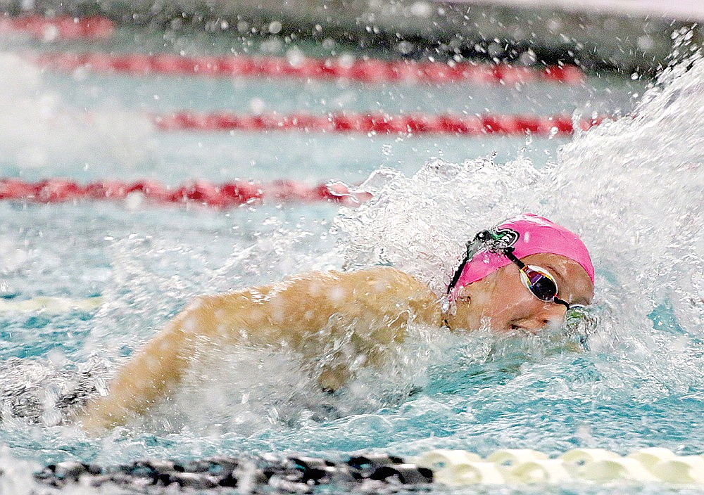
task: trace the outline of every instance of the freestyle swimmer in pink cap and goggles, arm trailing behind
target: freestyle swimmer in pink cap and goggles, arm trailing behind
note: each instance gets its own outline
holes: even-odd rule
[[[99,430],[147,413],[175,393],[208,347],[287,348],[315,363],[327,343],[347,335],[352,361],[379,366],[411,322],[448,331],[489,326],[537,333],[562,324],[571,307],[589,304],[593,283],[582,240],[548,219],[522,214],[467,243],[444,295],[378,266],[197,297],[118,372],[105,397],[87,404],[80,423]],[[342,387],[353,375],[350,364],[339,359],[318,369],[320,387]]]

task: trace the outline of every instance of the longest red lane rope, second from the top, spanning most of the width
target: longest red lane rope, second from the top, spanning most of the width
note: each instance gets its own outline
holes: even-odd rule
[[[61,70],[87,68],[133,75],[200,75],[348,79],[356,82],[425,82],[446,84],[518,84],[562,82],[581,84],[584,72],[574,65],[527,68],[485,63],[355,60],[353,58],[285,58],[252,56],[182,57],[170,54],[44,53],[37,63]]]

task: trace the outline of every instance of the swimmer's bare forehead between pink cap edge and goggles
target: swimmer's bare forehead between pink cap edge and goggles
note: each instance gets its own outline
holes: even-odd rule
[[[594,295],[594,285],[582,266],[560,255],[539,253],[522,258],[525,264],[542,266],[555,276],[559,296],[574,304],[589,304]]]

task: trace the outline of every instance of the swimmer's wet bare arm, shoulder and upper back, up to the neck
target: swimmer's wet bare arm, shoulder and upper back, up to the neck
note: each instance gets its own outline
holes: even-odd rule
[[[399,309],[401,302],[408,303],[408,309]],[[420,321],[436,324],[434,307],[425,286],[393,269],[314,273],[273,286],[199,297],[120,370],[109,394],[89,404],[82,425],[87,429],[121,425],[146,412],[172,394],[191,359],[197,352],[207,352],[208,346],[247,342],[290,347],[315,359],[327,343],[323,340],[349,331],[345,324],[330,323],[337,315],[341,321],[356,322],[356,332],[364,330],[360,338],[366,344],[360,350],[374,361],[378,349],[403,334],[405,319],[400,314],[407,316],[410,310]],[[329,333],[320,333],[323,328]],[[321,370],[318,382],[336,390],[348,375],[344,363],[334,364]]]

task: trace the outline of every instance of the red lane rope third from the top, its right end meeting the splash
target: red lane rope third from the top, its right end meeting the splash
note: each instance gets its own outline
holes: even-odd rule
[[[605,117],[582,119],[578,127],[587,130]],[[570,135],[574,124],[570,115],[384,115],[329,113],[310,115],[239,115],[236,113],[179,112],[153,116],[162,131],[290,131],[337,132],[344,134],[487,134],[538,136]]]

